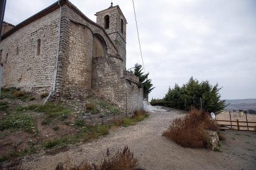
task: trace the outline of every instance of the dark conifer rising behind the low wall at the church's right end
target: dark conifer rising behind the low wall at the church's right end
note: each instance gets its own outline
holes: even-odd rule
[[[149,73],[143,73],[142,65],[139,65],[136,63],[134,65],[134,70],[131,71],[135,76],[139,77],[139,87],[143,87],[143,97],[144,99],[148,100],[148,94],[150,94],[155,87],[153,87],[153,84],[151,83],[151,79],[148,79]]]

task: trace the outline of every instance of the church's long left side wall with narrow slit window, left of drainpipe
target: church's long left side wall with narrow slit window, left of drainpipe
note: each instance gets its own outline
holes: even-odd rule
[[[0,44],[2,86],[23,91],[50,91],[58,51],[59,9],[15,31]],[[41,39],[40,55],[36,55]]]

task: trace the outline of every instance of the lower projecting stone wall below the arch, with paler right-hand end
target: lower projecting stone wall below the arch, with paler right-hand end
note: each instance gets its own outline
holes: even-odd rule
[[[126,80],[118,60],[113,57],[93,58],[92,89],[117,103],[129,116],[135,110],[142,109],[143,91],[137,83]]]

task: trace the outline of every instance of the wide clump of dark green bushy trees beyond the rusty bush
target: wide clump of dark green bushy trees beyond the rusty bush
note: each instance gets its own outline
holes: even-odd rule
[[[220,100],[220,89],[218,84],[212,86],[209,81],[200,83],[191,77],[182,87],[175,84],[173,89],[169,88],[164,97],[164,104],[167,107],[189,110],[191,107],[200,109],[202,102],[203,110],[220,113],[226,107],[225,100]]]

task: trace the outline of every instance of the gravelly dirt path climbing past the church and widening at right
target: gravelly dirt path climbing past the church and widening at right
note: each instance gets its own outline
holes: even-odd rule
[[[223,152],[183,148],[161,136],[169,122],[181,116],[184,113],[177,110],[151,112],[150,118],[136,126],[121,127],[106,137],[71,147],[66,152],[25,158],[22,168],[54,169],[56,164],[67,160],[95,163],[103,158],[107,148],[114,153],[129,145],[139,160],[139,167],[145,169],[256,169],[256,133],[223,132],[227,138],[221,147]]]

